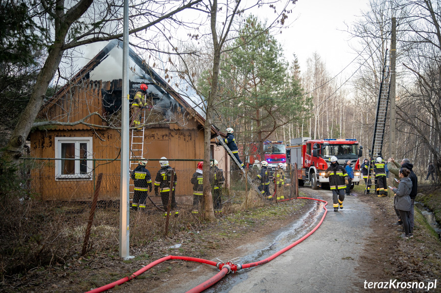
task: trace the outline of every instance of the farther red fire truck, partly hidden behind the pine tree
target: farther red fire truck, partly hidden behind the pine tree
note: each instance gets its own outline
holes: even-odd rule
[[[283,141],[265,141],[263,143],[263,152],[265,154],[265,161],[268,162],[268,168],[275,169],[278,163],[283,163],[286,169],[286,147]],[[260,162],[264,158],[259,154],[259,144],[249,144],[249,153],[247,160],[247,167],[252,165],[260,166]]]

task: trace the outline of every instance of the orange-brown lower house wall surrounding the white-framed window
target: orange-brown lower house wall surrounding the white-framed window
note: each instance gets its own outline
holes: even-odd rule
[[[97,161],[95,164],[95,177],[103,173],[103,181],[100,189],[100,199],[116,200],[120,197],[120,169],[121,161],[111,162],[114,158],[120,158],[121,137],[117,130],[48,130],[34,131],[31,134],[31,156],[42,158],[55,157],[55,138],[92,138],[93,158],[109,159]],[[203,154],[203,131],[197,129],[174,130],[168,126],[146,129],[144,135],[145,158],[169,158],[170,166],[178,172],[189,171],[196,168],[197,162],[179,162],[173,159],[202,158]],[[43,162],[37,162],[43,164]],[[31,171],[34,178],[31,187],[40,194],[43,200],[81,201],[91,200],[94,194],[94,180],[69,180],[55,178],[54,161],[47,161],[39,168]],[[159,170],[158,161],[149,161],[147,168],[152,177]],[[191,195],[188,182],[178,183],[177,195]]]

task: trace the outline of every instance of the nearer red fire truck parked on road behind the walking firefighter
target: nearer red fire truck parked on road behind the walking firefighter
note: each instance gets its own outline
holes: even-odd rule
[[[329,178],[324,178],[324,171],[331,165],[332,156],[338,158],[338,164],[343,167],[347,160],[351,160],[354,168],[354,183],[360,182],[360,157],[363,147],[358,146],[355,139],[323,139],[311,138],[291,139],[291,144],[286,148],[287,169],[293,169],[297,163],[297,178],[300,186],[310,183],[312,189],[329,184]]]

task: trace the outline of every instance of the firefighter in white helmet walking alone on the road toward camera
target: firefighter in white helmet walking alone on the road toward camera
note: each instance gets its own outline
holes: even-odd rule
[[[329,177],[329,187],[332,190],[334,211],[338,211],[339,205],[341,209],[343,208],[344,189],[349,183],[349,177],[347,176],[346,170],[338,164],[336,156],[332,156],[330,161],[331,166],[324,171],[324,178]]]

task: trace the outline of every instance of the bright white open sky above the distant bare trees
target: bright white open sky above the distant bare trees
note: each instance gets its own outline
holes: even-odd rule
[[[290,22],[296,17],[297,20],[277,36],[285,48],[287,60],[291,61],[295,53],[303,71],[306,60],[317,51],[330,73],[340,72],[356,57],[349,47],[350,36],[344,32],[344,23],[350,26],[361,15],[360,11],[367,9],[367,4],[367,0],[298,0],[288,18]],[[352,73],[355,69],[346,71]]]

